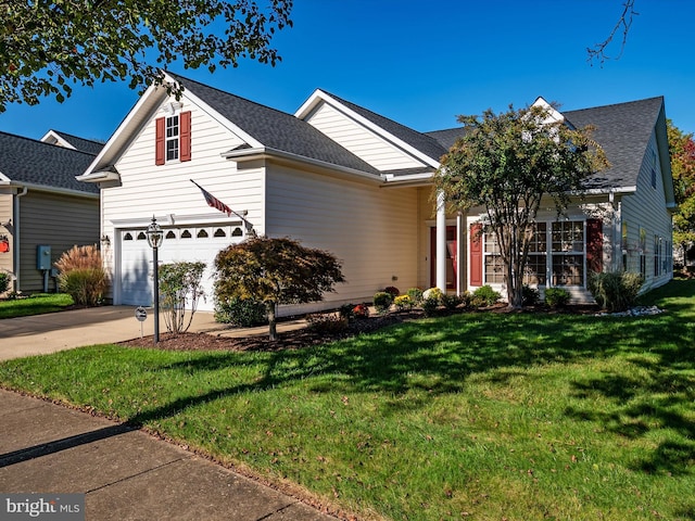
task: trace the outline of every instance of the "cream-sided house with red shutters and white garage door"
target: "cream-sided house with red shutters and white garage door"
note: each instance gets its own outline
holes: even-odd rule
[[[155,216],[165,231],[160,260],[205,262],[207,301],[200,308],[214,307],[214,257],[248,230],[238,215],[208,207],[191,180],[244,215],[255,232],[291,237],[343,262],[346,283],[301,310],[370,301],[388,285],[463,292],[500,284],[490,241],[469,239],[478,217],[447,215],[433,202],[431,177],[460,128],[418,132],[323,90],[292,115],[179,76],[168,79],[185,87],[182,97],[148,89],[78,177],[101,188],[114,304],[152,302],[144,230]],[[598,127],[612,167],[592,179],[586,204],[572,207],[568,220],[543,217],[538,283],[561,284],[585,298],[587,263],[618,269],[623,262],[643,270],[648,284],[665,282],[673,190],[664,100],[565,117]],[[566,267],[574,269],[571,277],[561,276]]]

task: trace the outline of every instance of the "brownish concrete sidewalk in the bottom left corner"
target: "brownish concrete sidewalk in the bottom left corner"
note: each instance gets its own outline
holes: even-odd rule
[[[336,521],[142,431],[49,402],[0,390],[0,492],[83,493],[86,520]]]

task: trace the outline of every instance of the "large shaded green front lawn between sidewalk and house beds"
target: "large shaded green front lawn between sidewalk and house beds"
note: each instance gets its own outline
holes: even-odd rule
[[[695,281],[643,318],[470,313],[278,353],[99,345],[0,384],[361,519],[695,519]]]

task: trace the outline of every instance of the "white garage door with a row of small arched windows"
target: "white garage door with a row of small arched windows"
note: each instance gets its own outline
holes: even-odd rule
[[[122,229],[121,265],[115,295],[117,303],[134,306],[151,306],[152,300],[152,249],[148,244],[144,229]],[[203,262],[202,287],[205,298],[198,309],[213,310],[215,256],[229,244],[243,240],[238,226],[202,226],[164,228],[164,242],[159,249],[159,264],[176,262]],[[119,290],[119,292],[117,291]],[[119,298],[118,298],[119,293]]]

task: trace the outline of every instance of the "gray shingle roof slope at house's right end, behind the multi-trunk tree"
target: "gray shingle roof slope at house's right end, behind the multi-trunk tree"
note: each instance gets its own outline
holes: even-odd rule
[[[610,167],[586,180],[587,188],[634,187],[664,98],[563,112],[577,127],[596,127],[594,139],[606,152]]]

